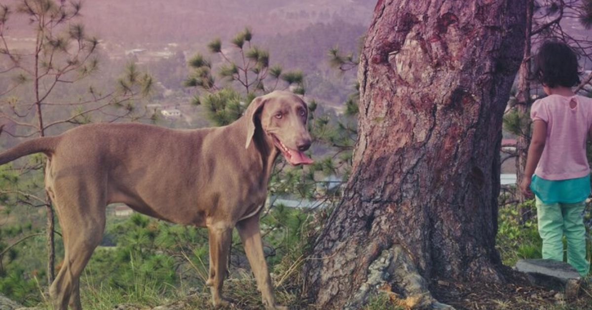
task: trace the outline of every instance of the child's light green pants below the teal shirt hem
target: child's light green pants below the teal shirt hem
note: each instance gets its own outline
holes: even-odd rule
[[[539,234],[543,239],[543,258],[563,261],[563,235],[567,239],[567,262],[581,276],[586,276],[590,263],[586,260],[585,201],[578,203],[543,203],[536,197]]]

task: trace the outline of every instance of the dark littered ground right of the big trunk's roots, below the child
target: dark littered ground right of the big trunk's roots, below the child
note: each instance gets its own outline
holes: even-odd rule
[[[449,283],[435,281],[434,297],[455,309],[592,309],[592,287],[583,280],[577,298],[567,300],[561,290],[533,286],[523,273],[504,271],[508,283]]]

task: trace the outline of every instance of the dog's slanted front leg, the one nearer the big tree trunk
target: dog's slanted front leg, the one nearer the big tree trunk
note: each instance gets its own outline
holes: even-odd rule
[[[288,309],[275,303],[271,277],[267,270],[267,263],[263,255],[261,232],[259,231],[259,215],[251,216],[237,223],[240,239],[243,241],[244,253],[255,275],[255,281],[263,298],[266,309]]]

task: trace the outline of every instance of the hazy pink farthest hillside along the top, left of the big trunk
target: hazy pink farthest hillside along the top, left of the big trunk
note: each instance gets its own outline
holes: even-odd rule
[[[15,1],[8,1],[8,4]],[[126,46],[142,43],[204,43],[252,27],[275,36],[310,24],[346,20],[367,26],[375,0],[101,0],[83,1],[83,22],[99,38]],[[18,17],[19,21],[15,22]],[[11,36],[27,36],[22,14],[12,15]]]

